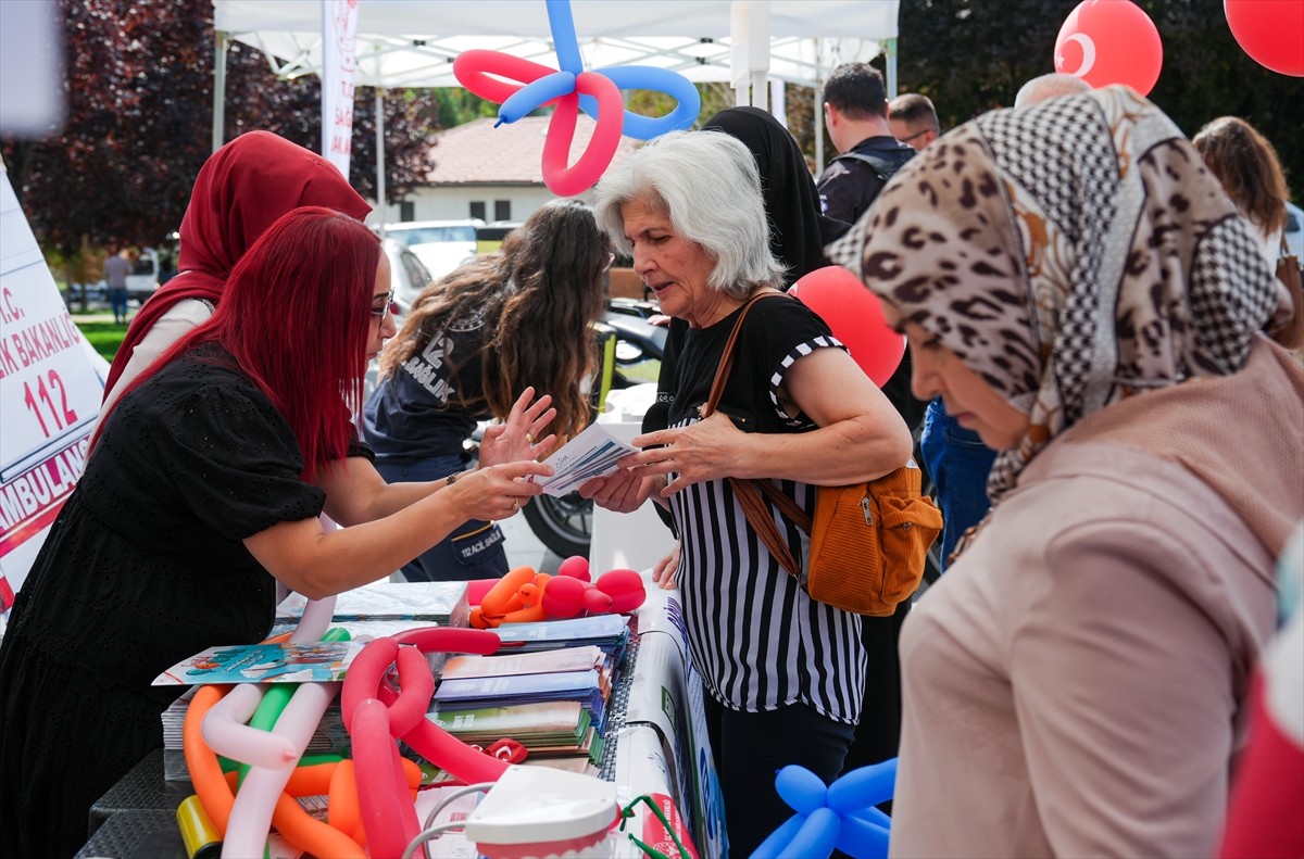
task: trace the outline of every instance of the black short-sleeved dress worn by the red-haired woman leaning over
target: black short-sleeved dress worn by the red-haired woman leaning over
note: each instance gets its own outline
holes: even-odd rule
[[[241,541],[321,512],[301,471],[288,424],[215,345],[113,409],[0,645],[0,856],[76,852],[89,807],[163,744],[183,688],[154,678],[266,636],[276,583]]]

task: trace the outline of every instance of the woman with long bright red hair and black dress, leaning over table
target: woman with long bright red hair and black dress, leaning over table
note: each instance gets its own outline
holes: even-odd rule
[[[351,409],[395,332],[391,298],[366,227],[296,209],[111,407],[0,647],[0,855],[76,852],[90,804],[163,744],[179,687],[154,678],[262,640],[278,583],[322,598],[383,579],[539,494],[526,478],[552,469],[529,437],[553,411],[532,390],[477,471],[394,485],[376,472]],[[347,527],[323,531],[322,512]]]

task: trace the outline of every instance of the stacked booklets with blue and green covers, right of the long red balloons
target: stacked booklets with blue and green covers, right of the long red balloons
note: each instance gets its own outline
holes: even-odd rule
[[[531,760],[602,760],[615,660],[588,644],[496,656],[456,656],[443,667],[430,720],[476,746],[511,738]]]

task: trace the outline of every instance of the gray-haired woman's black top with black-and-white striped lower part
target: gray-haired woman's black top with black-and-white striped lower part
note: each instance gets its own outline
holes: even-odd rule
[[[665,391],[669,424],[687,426],[705,401],[737,314],[687,331]],[[790,416],[778,386],[792,365],[819,348],[840,348],[824,322],[798,301],[762,301],[747,315],[720,411],[750,431],[815,429]],[[776,481],[805,510],[815,488]],[[767,502],[768,503],[768,502]],[[771,710],[803,703],[829,718],[859,718],[865,690],[861,620],[811,600],[747,524],[726,480],[689,486],[672,499],[682,555],[678,571],[694,665],[725,706]],[[773,512],[793,555],[806,558],[808,538]]]

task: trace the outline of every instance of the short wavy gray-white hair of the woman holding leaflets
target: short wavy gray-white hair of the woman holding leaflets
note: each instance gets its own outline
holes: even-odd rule
[[[760,173],[751,150],[722,132],[670,132],[614,164],[595,189],[593,214],[612,241],[632,252],[621,210],[642,202],[665,212],[675,233],[715,261],[708,285],[734,298],[781,288],[769,250]]]

